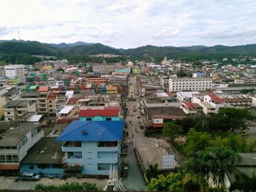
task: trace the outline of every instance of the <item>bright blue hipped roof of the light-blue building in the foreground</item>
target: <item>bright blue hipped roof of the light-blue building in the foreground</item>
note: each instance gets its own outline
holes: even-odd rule
[[[57,137],[57,141],[121,141],[124,121],[81,121],[72,123]],[[86,133],[86,134],[85,134]]]

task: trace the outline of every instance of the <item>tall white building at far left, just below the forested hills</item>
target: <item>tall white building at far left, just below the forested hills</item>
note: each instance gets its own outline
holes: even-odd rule
[[[18,77],[20,82],[25,82],[23,65],[7,65],[4,66],[4,76],[8,78]]]

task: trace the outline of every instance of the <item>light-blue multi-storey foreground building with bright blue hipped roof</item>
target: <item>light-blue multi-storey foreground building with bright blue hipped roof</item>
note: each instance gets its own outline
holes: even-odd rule
[[[118,169],[124,122],[74,120],[57,137],[64,142],[66,174],[109,175]]]

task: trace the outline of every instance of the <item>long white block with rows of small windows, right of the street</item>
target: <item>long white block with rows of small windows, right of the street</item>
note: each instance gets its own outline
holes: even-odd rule
[[[211,89],[211,78],[170,78],[169,92],[178,91],[206,91]]]

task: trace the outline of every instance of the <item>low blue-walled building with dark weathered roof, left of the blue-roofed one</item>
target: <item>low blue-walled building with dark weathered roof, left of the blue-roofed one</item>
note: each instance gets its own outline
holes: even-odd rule
[[[64,174],[63,157],[61,142],[56,142],[53,137],[42,137],[20,162],[20,174],[30,172],[60,177]]]

